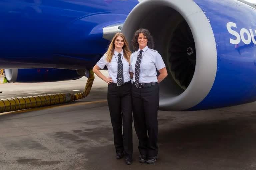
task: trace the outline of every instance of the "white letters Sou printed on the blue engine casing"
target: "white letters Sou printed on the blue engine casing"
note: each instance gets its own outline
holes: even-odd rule
[[[238,32],[232,30],[231,27],[237,28],[236,23],[233,23],[233,22],[227,23],[227,30],[228,30],[228,32],[236,37],[236,39],[231,39],[230,38],[230,43],[231,44],[234,44],[234,45],[239,44],[241,42],[241,40],[242,40],[242,42],[244,44],[248,45],[252,41],[256,45],[256,40],[255,40],[254,33],[253,33],[252,29],[249,29],[250,31],[248,31],[247,29],[242,28],[240,30],[240,34],[239,34]],[[254,30],[254,32],[256,34],[256,30]],[[245,34],[247,34],[247,39],[244,37]]]

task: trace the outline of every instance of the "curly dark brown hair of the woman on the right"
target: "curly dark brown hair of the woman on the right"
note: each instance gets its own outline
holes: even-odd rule
[[[133,39],[132,39],[133,50],[138,50],[138,48],[139,48],[138,37],[139,37],[140,33],[142,33],[145,37],[147,37],[148,47],[151,48],[151,49],[154,49],[154,40],[153,40],[153,37],[151,36],[150,32],[145,28],[140,28],[139,30],[137,30],[134,33],[134,36],[133,36]]]

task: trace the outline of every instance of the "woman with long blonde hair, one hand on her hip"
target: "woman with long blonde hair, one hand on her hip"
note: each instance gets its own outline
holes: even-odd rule
[[[116,158],[122,159],[125,155],[126,164],[132,163],[133,152],[130,56],[131,51],[124,35],[116,33],[107,52],[93,67],[93,72],[108,83],[107,99],[114,132]],[[105,66],[108,68],[109,77],[100,72]]]

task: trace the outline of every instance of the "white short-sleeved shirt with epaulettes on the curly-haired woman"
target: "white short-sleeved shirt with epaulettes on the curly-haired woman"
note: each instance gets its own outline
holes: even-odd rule
[[[140,62],[140,79],[139,83],[151,83],[157,82],[157,70],[161,70],[165,67],[164,61],[161,55],[153,49],[148,48],[146,46],[142,49],[142,59]],[[135,81],[135,64],[137,61],[137,57],[140,53],[140,49],[131,55],[131,67],[130,72],[133,72],[133,79]]]

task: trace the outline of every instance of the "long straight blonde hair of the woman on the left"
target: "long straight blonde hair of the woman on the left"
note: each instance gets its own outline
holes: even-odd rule
[[[130,64],[130,57],[131,57],[131,51],[129,50],[129,45],[128,42],[126,41],[124,34],[123,33],[116,33],[115,36],[113,37],[111,43],[109,44],[108,50],[105,53],[106,57],[106,61],[107,62],[111,62],[112,57],[114,55],[114,50],[115,50],[115,40],[116,38],[120,36],[123,38],[124,40],[124,46],[123,46],[123,52],[124,52],[124,58],[129,62]]]

